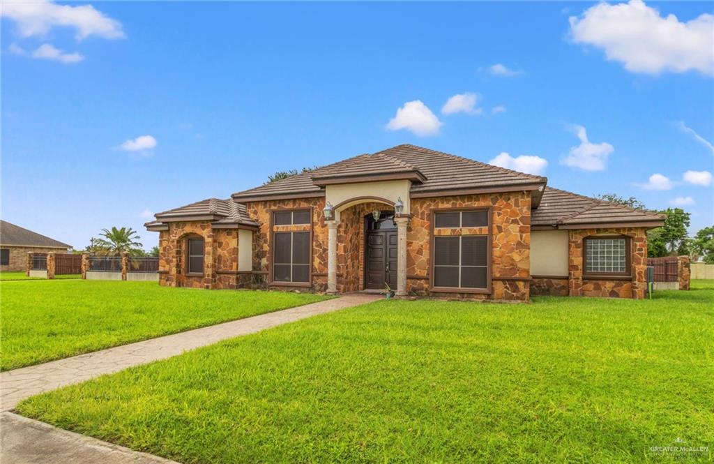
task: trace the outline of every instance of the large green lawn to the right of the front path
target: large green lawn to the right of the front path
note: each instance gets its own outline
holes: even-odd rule
[[[184,464],[661,462],[676,438],[710,460],[714,285],[657,296],[382,300],[19,412]]]

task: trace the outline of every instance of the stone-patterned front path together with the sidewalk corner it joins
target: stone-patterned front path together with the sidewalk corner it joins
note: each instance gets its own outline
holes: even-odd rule
[[[61,430],[8,411],[15,408],[21,400],[48,390],[83,382],[127,367],[180,355],[187,350],[259,332],[287,322],[364,305],[379,298],[378,295],[346,295],[333,300],[268,312],[233,322],[68,357],[64,360],[0,372],[0,410],[4,411],[0,413],[0,460],[2,464],[173,463],[157,456]]]

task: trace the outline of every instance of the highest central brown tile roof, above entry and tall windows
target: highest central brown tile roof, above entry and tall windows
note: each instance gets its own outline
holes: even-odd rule
[[[319,195],[324,190],[316,182],[340,177],[365,175],[415,174],[412,192],[438,192],[450,189],[518,187],[545,184],[541,176],[492,166],[453,154],[398,145],[375,154],[360,154],[311,172],[261,185],[233,194],[233,198],[263,197],[283,194]]]

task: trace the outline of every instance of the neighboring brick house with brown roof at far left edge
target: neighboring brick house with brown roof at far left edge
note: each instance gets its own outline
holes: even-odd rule
[[[24,271],[27,254],[66,253],[71,245],[0,220],[0,271]]]

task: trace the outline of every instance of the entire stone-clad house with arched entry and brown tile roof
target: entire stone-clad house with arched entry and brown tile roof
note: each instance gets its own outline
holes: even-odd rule
[[[522,300],[645,295],[651,212],[400,145],[156,214],[161,285]]]

